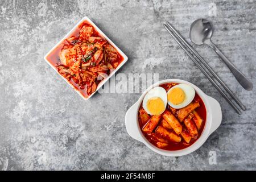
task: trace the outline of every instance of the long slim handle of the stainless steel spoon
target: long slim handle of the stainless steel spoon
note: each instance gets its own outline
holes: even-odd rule
[[[224,61],[224,63],[228,66],[230,71],[233,73],[233,75],[236,77],[237,81],[240,82],[243,88],[246,90],[252,90],[253,89],[253,83],[246,78],[243,73],[241,73],[229,60],[226,58],[226,56],[220,51],[220,49],[215,46],[212,41],[209,39],[205,40],[205,44],[208,44],[210,47],[213,48],[213,50],[218,54],[218,56],[221,57],[221,59]]]

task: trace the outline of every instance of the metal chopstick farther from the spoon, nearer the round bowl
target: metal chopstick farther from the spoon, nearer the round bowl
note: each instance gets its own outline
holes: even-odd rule
[[[181,48],[183,48],[183,50],[187,53],[187,55],[192,59],[192,61],[197,65],[197,67],[199,67],[199,69],[201,70],[201,72],[204,73],[204,75],[208,78],[208,80],[213,84],[213,86],[218,90],[218,92],[221,93],[221,95],[225,98],[225,100],[233,107],[234,110],[236,110],[236,112],[238,114],[241,114],[240,109],[238,109],[238,107],[236,105],[234,105],[234,103],[229,99],[228,96],[226,96],[226,94],[221,90],[220,86],[218,86],[216,84],[216,82],[212,79],[212,77],[210,77],[210,75],[204,70],[204,68],[199,64],[199,62],[195,59],[195,57],[192,56],[192,54],[185,48],[185,46],[180,42],[179,38],[176,37],[177,35],[175,34],[175,32],[173,33],[166,24],[164,24],[164,28],[166,28],[166,30],[171,34],[172,38],[174,38],[176,40],[176,42],[179,44],[179,46]]]

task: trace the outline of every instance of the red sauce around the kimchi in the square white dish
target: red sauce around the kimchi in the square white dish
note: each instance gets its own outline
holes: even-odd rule
[[[82,26],[84,26],[85,24],[89,24],[90,26],[92,26],[92,27],[94,28],[94,33],[93,33],[92,36],[98,36],[98,37],[100,36],[100,37],[104,38],[104,36],[102,36],[102,35],[96,30],[96,28],[95,28],[92,24],[90,24],[87,20],[84,20],[84,22],[80,23],[79,26],[77,26],[77,27],[75,28],[75,30],[71,33],[71,35],[69,35],[68,38],[71,38],[72,36],[75,36],[76,39],[79,39],[80,30],[81,30]],[[67,39],[68,39],[68,38],[67,38]],[[109,42],[108,42],[108,43],[109,43]],[[47,57],[46,57],[46,59],[48,60],[48,62],[49,62],[53,67],[55,67],[55,69],[56,69],[57,71],[58,71],[57,66],[61,64],[60,59],[59,59],[59,53],[60,53],[61,49],[64,47],[65,44],[68,44],[68,42],[67,42],[66,40],[63,40],[63,42],[59,43],[59,45],[58,45],[55,49],[53,49],[53,51],[50,52],[50,53],[47,55]],[[110,44],[110,43],[109,43],[109,44]],[[111,45],[111,44],[110,44],[110,45]],[[118,51],[117,51],[117,52],[118,52]],[[119,64],[123,61],[123,56],[122,56],[119,52],[118,52],[118,55],[119,55],[119,58],[118,58],[118,61],[117,61],[117,62],[118,62],[118,65],[119,65]],[[108,73],[108,75],[109,75],[109,73]],[[75,80],[73,80],[72,78],[71,78],[70,80],[68,80],[67,78],[65,78],[65,80],[67,80],[69,83],[71,83],[71,84],[74,86],[74,88],[75,88],[76,90],[79,90],[79,92],[82,94],[82,96],[88,97],[88,94],[86,93],[86,89],[85,89],[85,86],[84,86],[84,85],[79,86],[79,84],[77,84],[77,83],[75,82]],[[101,80],[101,81],[102,81],[102,80]],[[96,82],[97,86],[98,86],[98,84],[100,84],[101,81]]]

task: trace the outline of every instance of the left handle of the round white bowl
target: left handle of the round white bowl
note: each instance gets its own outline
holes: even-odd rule
[[[125,114],[125,127],[127,133],[136,140],[143,142],[142,135],[139,131],[139,123],[137,122],[139,102],[136,102]]]

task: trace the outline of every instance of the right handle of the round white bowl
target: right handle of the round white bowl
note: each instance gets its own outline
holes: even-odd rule
[[[212,126],[210,126],[210,134],[213,133],[221,124],[222,113],[221,107],[218,101],[214,98],[208,96],[208,101],[210,104],[210,109],[212,110]]]

